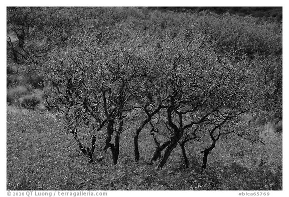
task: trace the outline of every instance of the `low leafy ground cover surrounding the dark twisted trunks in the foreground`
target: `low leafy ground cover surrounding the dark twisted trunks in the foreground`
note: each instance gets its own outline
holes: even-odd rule
[[[202,147],[187,146],[190,168],[176,148],[163,170],[148,165],[153,139],[140,136],[139,163],[133,161],[131,132],[121,134],[119,162],[109,152],[89,164],[59,116],[50,112],[7,106],[7,189],[12,190],[280,190],[282,137],[267,124],[265,144],[234,137],[223,139],[200,171]],[[100,140],[101,141],[101,140]]]

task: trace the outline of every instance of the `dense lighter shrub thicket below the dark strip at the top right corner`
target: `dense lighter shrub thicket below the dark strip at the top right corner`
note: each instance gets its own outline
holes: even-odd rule
[[[257,23],[250,17],[231,15],[204,15],[199,28],[213,49],[234,56],[282,55],[282,29],[273,22]]]

